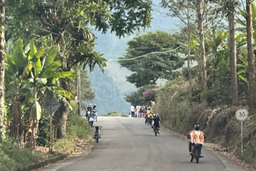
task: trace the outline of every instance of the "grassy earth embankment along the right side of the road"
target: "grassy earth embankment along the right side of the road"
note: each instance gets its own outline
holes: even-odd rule
[[[214,150],[225,153],[244,167],[256,168],[256,114],[251,112],[248,120],[243,122],[241,137],[241,122],[235,118],[235,111],[240,108],[248,109],[244,105],[210,107],[207,103],[199,103],[188,98],[186,86],[177,84],[157,92],[153,111],[159,114],[166,129],[181,135],[192,130],[194,124],[200,124],[206,135],[205,142]]]

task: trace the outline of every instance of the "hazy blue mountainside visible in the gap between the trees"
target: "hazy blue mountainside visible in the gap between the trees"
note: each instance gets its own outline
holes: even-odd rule
[[[151,28],[147,28],[140,34],[155,30],[171,32],[179,24],[179,19],[166,17],[163,14],[165,10],[157,8],[159,0],[154,1],[154,3]],[[123,56],[127,49],[127,41],[136,36],[136,34],[133,34],[125,38],[118,38],[114,33],[110,33],[110,31],[106,34],[96,31],[95,35],[97,36],[96,51],[103,53],[103,57],[107,60],[118,59],[118,57]],[[122,111],[125,114],[129,112],[130,104],[123,98],[125,94],[136,91],[136,86],[126,81],[125,76],[130,74],[131,71],[126,68],[120,68],[116,61],[107,62],[104,74],[101,73],[99,68],[94,70],[93,75],[88,74],[92,83],[92,90],[96,93],[93,103],[97,103],[100,113],[103,111],[104,114],[110,111]]]

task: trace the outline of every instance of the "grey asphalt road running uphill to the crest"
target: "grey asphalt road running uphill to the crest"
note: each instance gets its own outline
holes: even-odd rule
[[[188,140],[165,129],[155,136],[144,119],[99,117],[101,138],[89,155],[67,159],[43,170],[242,170],[203,148],[205,157],[190,162]],[[227,166],[226,163],[229,163]]]

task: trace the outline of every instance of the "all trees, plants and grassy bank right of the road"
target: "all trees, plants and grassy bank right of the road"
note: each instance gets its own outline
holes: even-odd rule
[[[138,90],[125,100],[134,106],[154,101],[153,112],[164,126],[182,135],[200,124],[207,142],[256,167],[255,3],[162,0],[160,5],[183,25],[128,42],[119,63],[133,72],[127,81]],[[235,118],[241,108],[250,115],[243,137]]]

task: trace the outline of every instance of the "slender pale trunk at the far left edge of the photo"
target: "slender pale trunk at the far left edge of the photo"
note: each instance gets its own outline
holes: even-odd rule
[[[3,128],[0,130],[5,135],[5,112],[4,112],[4,77],[5,77],[5,0],[0,0],[0,124]],[[1,137],[1,135],[0,135]]]

